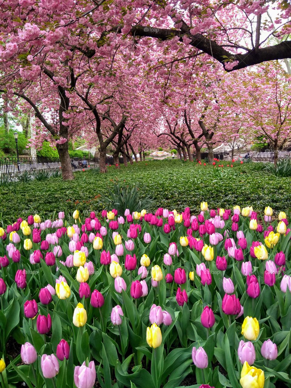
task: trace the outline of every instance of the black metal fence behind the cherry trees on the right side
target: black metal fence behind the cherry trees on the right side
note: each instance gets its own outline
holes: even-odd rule
[[[193,158],[195,157],[196,155],[193,154]],[[232,151],[229,149],[224,149],[220,152],[214,152],[214,157],[219,160],[231,161]],[[206,158],[208,158],[208,152],[201,152],[201,159]],[[274,149],[267,147],[235,149],[233,153],[233,159],[238,159],[241,161],[250,160],[253,162],[274,163]],[[278,151],[278,159],[291,159],[291,147],[282,147],[282,149]]]

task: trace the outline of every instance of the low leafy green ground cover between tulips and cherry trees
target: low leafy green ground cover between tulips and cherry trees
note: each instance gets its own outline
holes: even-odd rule
[[[134,163],[120,170],[109,167],[108,173],[76,172],[73,181],[61,178],[45,181],[18,182],[0,187],[0,203],[4,223],[18,217],[38,213],[49,217],[54,211],[101,211],[99,201],[108,193],[113,182],[140,184],[141,192],[151,194],[155,208],[161,206],[182,211],[199,208],[208,201],[209,208],[230,208],[235,204],[252,205],[263,211],[269,205],[276,211],[291,208],[291,178],[275,177],[262,170],[260,163],[234,163],[233,168],[213,168],[210,165],[182,163],[179,160]],[[154,209],[153,209],[154,210]]]

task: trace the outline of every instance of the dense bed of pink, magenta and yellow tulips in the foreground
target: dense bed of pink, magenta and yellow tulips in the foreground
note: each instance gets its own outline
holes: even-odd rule
[[[2,385],[291,386],[291,231],[274,219],[201,203],[0,228]]]

